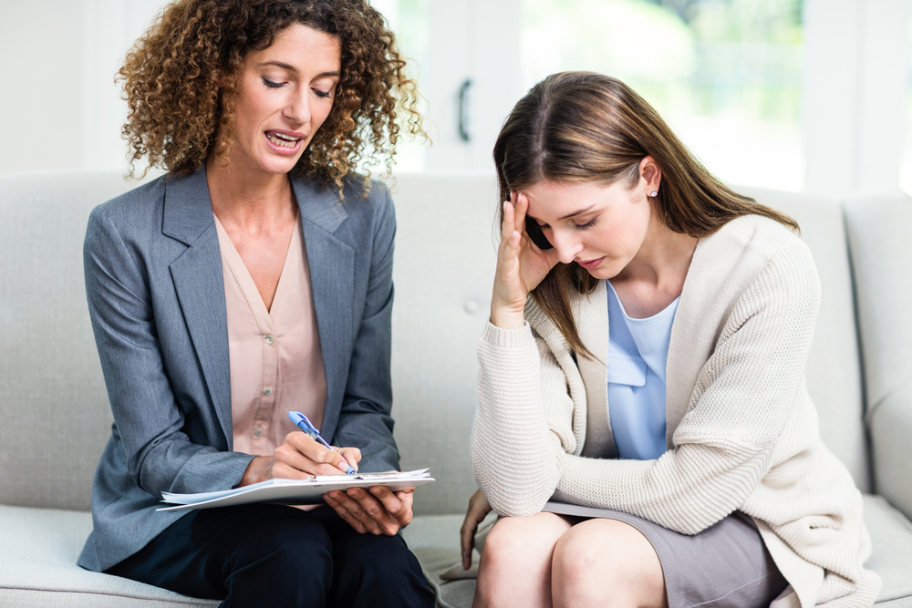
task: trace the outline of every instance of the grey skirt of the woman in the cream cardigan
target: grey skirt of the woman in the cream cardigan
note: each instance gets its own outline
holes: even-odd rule
[[[750,517],[735,511],[688,536],[617,510],[548,502],[544,509],[579,518],[623,521],[648,538],[665,575],[668,608],[761,608],[788,586]]]

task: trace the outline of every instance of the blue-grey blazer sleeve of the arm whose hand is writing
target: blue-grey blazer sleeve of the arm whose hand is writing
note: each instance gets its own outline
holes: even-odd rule
[[[130,477],[156,497],[240,483],[253,457],[216,448],[222,430],[214,413],[191,397],[179,404],[165,372],[149,281],[103,206],[89,218],[83,261],[114,435]],[[207,428],[212,445],[193,443],[188,426]]]

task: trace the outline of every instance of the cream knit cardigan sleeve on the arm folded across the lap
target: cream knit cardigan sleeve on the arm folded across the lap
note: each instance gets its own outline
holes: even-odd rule
[[[796,241],[735,302],[700,370],[674,448],[655,460],[564,455],[555,498],[622,510],[685,534],[738,509],[770,470],[802,398],[819,299],[810,252]]]

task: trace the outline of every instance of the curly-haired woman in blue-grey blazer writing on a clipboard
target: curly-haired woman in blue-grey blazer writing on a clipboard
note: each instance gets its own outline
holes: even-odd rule
[[[181,0],[128,54],[132,162],[168,172],[88,223],[114,425],[81,566],[225,606],[433,605],[397,535],[410,490],[157,511],[163,491],[399,468],[395,217],[355,168],[422,133],[404,67],[366,0]]]

